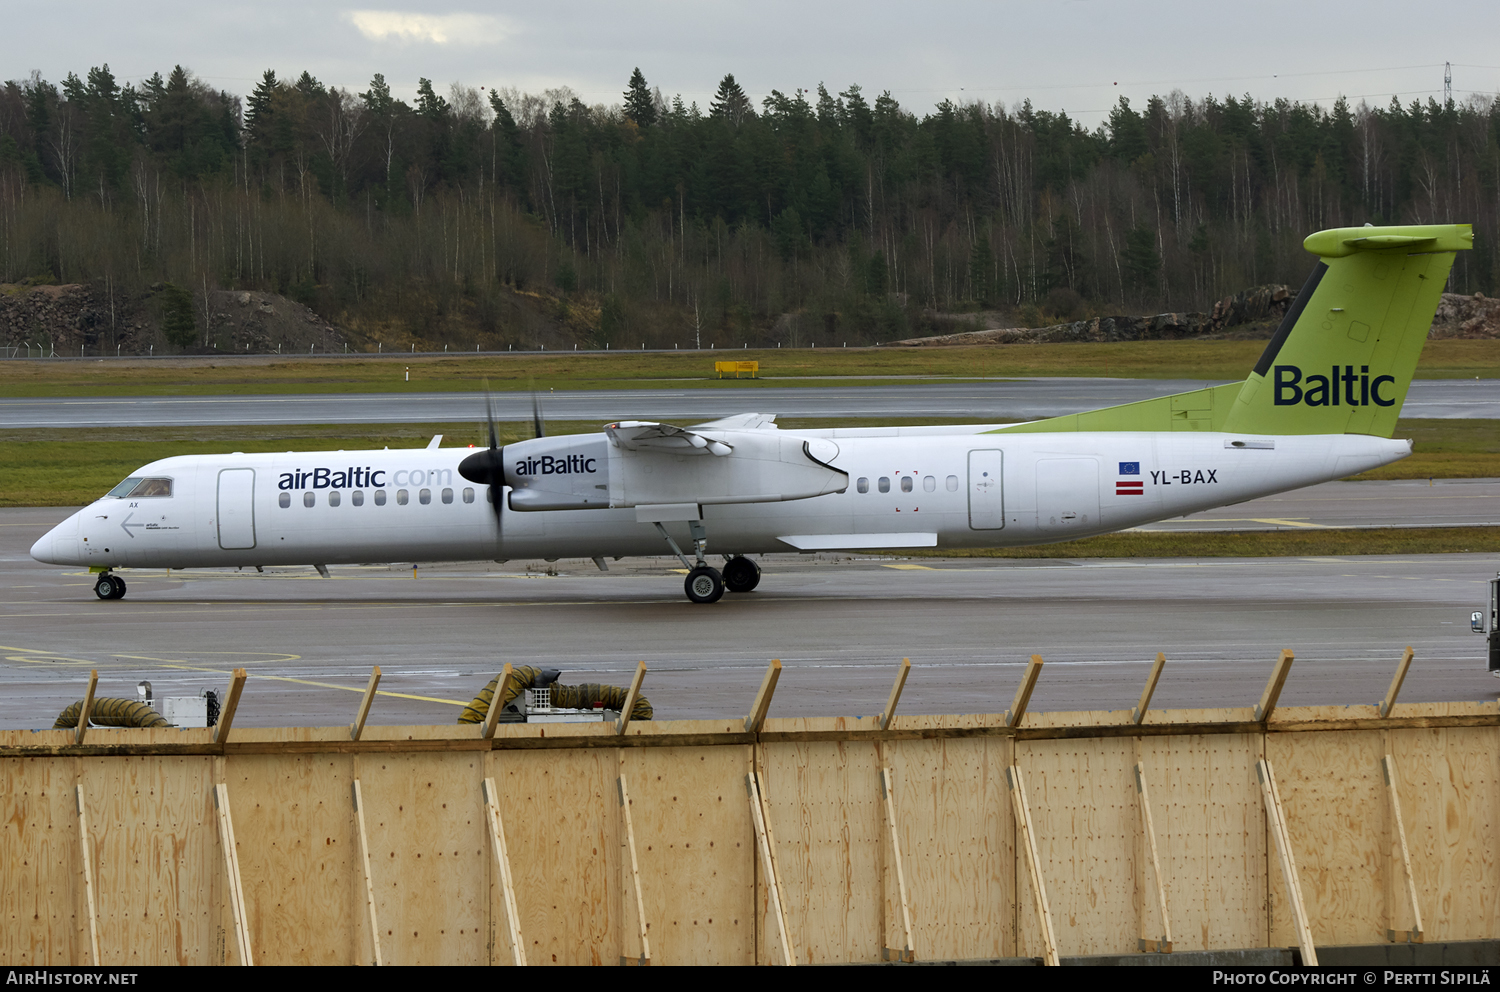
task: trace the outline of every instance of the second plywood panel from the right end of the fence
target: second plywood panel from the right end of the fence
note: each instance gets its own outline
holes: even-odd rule
[[[1386,857],[1383,744],[1377,731],[1266,738],[1314,944],[1386,938],[1386,873],[1395,866]],[[1270,942],[1298,942],[1280,870],[1270,872]]]

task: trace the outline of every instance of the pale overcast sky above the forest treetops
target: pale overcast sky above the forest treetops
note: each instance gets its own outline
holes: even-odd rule
[[[706,108],[726,72],[758,104],[858,83],[921,114],[944,98],[1066,110],[1096,126],[1124,95],[1140,107],[1180,89],[1371,104],[1500,92],[1500,3],[476,3],[326,0],[21,5],[0,0],[0,77],[60,81],[108,63],[122,81],[183,65],[246,95],[267,68],[360,92],[381,72],[406,99],[417,78],[616,104],[632,69]]]

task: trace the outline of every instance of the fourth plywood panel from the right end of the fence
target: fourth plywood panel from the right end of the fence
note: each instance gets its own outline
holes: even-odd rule
[[[1136,908],[1134,741],[1023,741],[1016,762],[1026,777],[1042,884],[1059,954],[1130,951]],[[1024,881],[1029,885],[1029,879]],[[1030,896],[1022,893],[1022,956],[1042,956]]]

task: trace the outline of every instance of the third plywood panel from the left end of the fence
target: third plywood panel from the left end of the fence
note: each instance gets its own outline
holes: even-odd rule
[[[348,755],[226,762],[240,881],[258,965],[370,959]]]

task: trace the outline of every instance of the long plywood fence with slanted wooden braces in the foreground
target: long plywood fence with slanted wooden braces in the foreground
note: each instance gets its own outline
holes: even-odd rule
[[[0,959],[825,963],[1500,933],[1500,708],[0,732]],[[642,669],[644,671],[644,669]],[[375,680],[372,678],[372,690]],[[639,684],[639,683],[638,683]],[[368,699],[366,699],[368,702]],[[1290,884],[1288,884],[1290,882]]]

